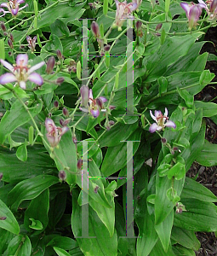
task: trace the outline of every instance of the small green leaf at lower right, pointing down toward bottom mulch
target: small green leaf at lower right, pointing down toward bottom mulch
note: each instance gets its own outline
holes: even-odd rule
[[[197,251],[201,246],[200,241],[198,241],[197,236],[192,230],[185,230],[174,226],[171,238],[183,247],[193,249],[195,251]]]

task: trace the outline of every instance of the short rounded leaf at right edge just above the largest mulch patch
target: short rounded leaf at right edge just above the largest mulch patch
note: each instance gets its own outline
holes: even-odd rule
[[[204,141],[201,152],[197,154],[196,160],[202,166],[216,166],[217,165],[217,145]]]

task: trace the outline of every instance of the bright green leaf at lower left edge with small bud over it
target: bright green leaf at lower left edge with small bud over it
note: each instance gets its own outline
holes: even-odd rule
[[[18,235],[20,232],[19,224],[17,220],[14,218],[13,213],[9,210],[9,208],[0,200],[0,228],[4,230],[9,230],[9,232]]]

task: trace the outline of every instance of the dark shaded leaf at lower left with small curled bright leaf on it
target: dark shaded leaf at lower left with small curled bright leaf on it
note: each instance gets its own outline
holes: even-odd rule
[[[38,209],[40,208],[40,211]],[[24,224],[26,230],[32,231],[38,230],[34,232],[34,235],[37,235],[43,230],[45,230],[46,226],[49,223],[48,218],[49,212],[49,189],[46,189],[38,195],[35,199],[32,199],[29,207],[25,212]],[[34,224],[35,222],[35,224]]]

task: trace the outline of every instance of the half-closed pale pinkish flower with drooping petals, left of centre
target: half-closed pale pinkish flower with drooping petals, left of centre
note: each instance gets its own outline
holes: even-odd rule
[[[60,143],[61,137],[69,130],[69,127],[57,127],[52,119],[45,119],[45,127],[48,133],[46,134],[49,144],[52,148]]]

